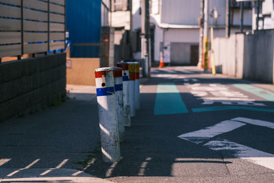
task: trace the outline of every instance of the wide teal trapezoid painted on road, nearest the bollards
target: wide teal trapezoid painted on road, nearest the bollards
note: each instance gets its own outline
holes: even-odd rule
[[[155,115],[187,113],[188,109],[174,83],[160,83],[154,105]]]

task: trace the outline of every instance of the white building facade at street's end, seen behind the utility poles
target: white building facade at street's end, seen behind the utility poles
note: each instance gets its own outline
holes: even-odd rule
[[[172,65],[197,65],[199,60],[200,0],[151,0],[151,49],[155,62],[159,62],[161,52],[164,62]],[[225,0],[209,0],[209,27],[214,28],[214,36],[225,36]],[[132,30],[137,39],[140,32],[140,0],[132,2]],[[239,32],[240,4],[230,3],[231,32]],[[245,2],[244,29],[251,29],[252,6]],[[134,43],[134,42],[133,42]],[[140,59],[140,41],[135,42],[134,58]]]

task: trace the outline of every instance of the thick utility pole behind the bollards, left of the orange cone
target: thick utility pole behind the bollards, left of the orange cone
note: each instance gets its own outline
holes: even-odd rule
[[[142,77],[149,77],[149,0],[141,0],[141,12]]]

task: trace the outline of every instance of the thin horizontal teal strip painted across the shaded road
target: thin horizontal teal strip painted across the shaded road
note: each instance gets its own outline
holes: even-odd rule
[[[192,108],[192,112],[212,112],[220,110],[254,110],[260,112],[274,112],[272,109],[264,108],[253,108],[253,107],[244,107],[244,106],[218,106],[218,107],[206,107],[206,108]]]

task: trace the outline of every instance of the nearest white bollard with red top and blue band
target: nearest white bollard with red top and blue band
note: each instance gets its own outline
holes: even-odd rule
[[[111,67],[95,69],[101,150],[104,162],[121,160],[114,77]]]

